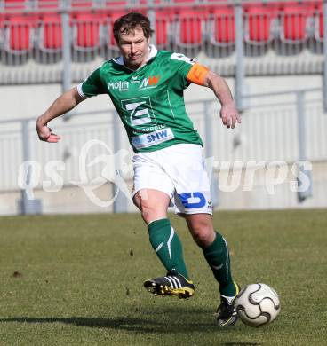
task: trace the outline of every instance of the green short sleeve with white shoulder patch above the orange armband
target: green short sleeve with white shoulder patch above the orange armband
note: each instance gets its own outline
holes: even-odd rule
[[[186,89],[189,85],[187,74],[193,65],[195,65],[195,59],[187,58],[186,55],[180,53],[171,54],[171,75],[174,76],[175,83],[182,89]]]

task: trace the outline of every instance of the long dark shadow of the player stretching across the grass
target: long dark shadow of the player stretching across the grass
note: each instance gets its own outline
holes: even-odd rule
[[[184,312],[184,313],[183,313]],[[68,318],[37,318],[13,317],[0,318],[0,323],[64,323],[67,325],[87,326],[95,328],[109,328],[144,333],[190,333],[217,331],[214,319],[208,318],[211,311],[194,309],[190,311],[168,311],[156,314],[154,311],[139,311],[138,317],[68,317]],[[141,315],[141,316],[140,316]],[[196,318],[194,318],[196,317]]]

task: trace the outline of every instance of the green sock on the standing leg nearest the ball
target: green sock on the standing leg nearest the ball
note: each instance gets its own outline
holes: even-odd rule
[[[220,295],[234,296],[236,287],[230,271],[230,258],[225,238],[216,232],[215,240],[208,248],[203,248],[203,254],[219,282]]]

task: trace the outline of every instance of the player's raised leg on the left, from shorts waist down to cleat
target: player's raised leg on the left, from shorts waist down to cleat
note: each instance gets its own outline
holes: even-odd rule
[[[156,295],[194,295],[195,287],[188,279],[179,236],[167,218],[167,208],[174,186],[162,162],[162,151],[138,153],[133,157],[133,201],[148,225],[149,240],[156,255],[168,271],[164,277],[148,279],[144,286]]]

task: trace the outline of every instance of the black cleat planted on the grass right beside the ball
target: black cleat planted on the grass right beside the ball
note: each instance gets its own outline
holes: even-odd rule
[[[234,284],[236,287],[236,294],[234,297],[226,297],[225,295],[220,295],[221,303],[215,313],[215,316],[217,318],[216,323],[219,327],[234,326],[237,321],[235,300],[236,296],[241,290],[241,287],[239,287],[236,283]]]

